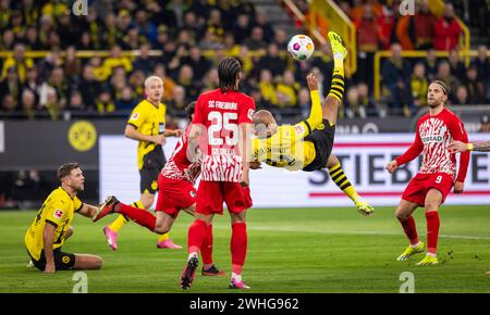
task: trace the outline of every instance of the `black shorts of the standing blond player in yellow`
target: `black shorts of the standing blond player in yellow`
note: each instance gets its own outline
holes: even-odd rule
[[[139,190],[142,193],[155,194],[158,191],[158,175],[166,163],[167,159],[161,146],[155,147],[154,151],[148,152],[143,158],[143,167],[139,169]]]

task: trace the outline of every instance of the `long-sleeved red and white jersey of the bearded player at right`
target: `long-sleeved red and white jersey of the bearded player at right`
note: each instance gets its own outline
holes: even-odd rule
[[[420,174],[446,173],[453,179],[456,176],[456,156],[451,154],[448,146],[453,140],[468,142],[468,136],[460,117],[448,109],[430,116],[430,113],[421,116],[417,122],[414,144],[400,158],[399,165],[405,164],[420,153],[424,160]],[[457,181],[464,181],[469,163],[469,152],[461,154]]]

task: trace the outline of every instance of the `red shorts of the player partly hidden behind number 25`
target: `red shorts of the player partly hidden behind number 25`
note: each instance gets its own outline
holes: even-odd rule
[[[169,179],[158,176],[158,199],[155,211],[163,211],[176,217],[179,211],[196,202],[196,189],[187,180]]]

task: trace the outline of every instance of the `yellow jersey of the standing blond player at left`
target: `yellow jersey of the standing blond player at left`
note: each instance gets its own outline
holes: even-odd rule
[[[157,108],[149,101],[143,100],[134,108],[127,124],[133,125],[140,134],[146,136],[162,135],[166,131],[166,113],[167,105],[160,103]],[[155,149],[162,150],[161,146],[154,142],[139,141],[138,169],[143,168],[145,155]],[[158,155],[163,155],[163,153]]]

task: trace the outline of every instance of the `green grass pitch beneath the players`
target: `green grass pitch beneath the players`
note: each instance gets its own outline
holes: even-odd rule
[[[254,209],[248,213],[248,253],[244,279],[249,292],[393,292],[403,285],[400,276],[411,272],[415,292],[490,292],[490,205],[444,206],[437,266],[416,266],[419,254],[396,262],[407,242],[394,217],[394,207],[378,207],[372,217],[354,209]],[[24,232],[34,211],[0,212],[0,292],[65,292],[76,284],[75,272],[44,275],[27,268]],[[64,244],[66,252],[94,253],[103,257],[101,270],[86,272],[88,292],[182,292],[177,285],[185,264],[185,250],[159,250],[156,235],[134,223],[120,232],[112,252],[102,227],[75,215],[75,232]],[[424,210],[415,214],[422,241]],[[191,216],[182,213],[171,232],[186,245]],[[203,277],[200,266],[191,292],[230,292],[229,215],[215,218],[215,262],[225,277]]]

